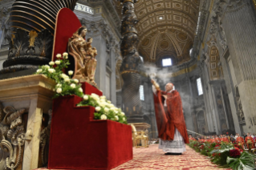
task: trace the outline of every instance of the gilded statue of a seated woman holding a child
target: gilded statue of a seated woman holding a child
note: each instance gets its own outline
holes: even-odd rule
[[[68,53],[75,58],[75,73],[73,79],[79,79],[79,82],[91,83],[96,86],[95,70],[97,66],[97,60],[95,56],[97,50],[95,47],[91,47],[92,38],[87,38],[87,28],[81,26],[71,38],[68,43]]]

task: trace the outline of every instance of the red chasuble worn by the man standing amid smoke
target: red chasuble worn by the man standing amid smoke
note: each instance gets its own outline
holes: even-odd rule
[[[162,95],[167,95],[166,105]],[[184,138],[185,144],[189,144],[189,136],[185,126],[185,119],[182,111],[181,96],[178,91],[171,93],[165,91],[156,91],[154,95],[154,104],[156,110],[156,123],[158,129],[158,137],[161,140],[173,140],[175,127]]]

